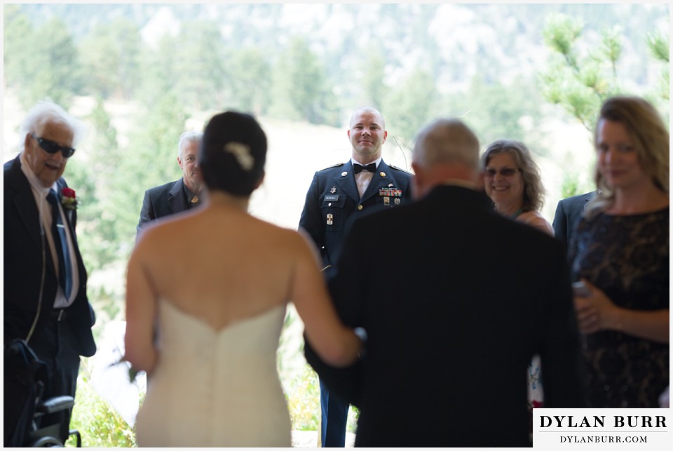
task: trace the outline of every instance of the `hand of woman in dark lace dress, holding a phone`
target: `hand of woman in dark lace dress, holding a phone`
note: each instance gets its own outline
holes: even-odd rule
[[[619,315],[619,307],[595,285],[582,279],[590,292],[588,296],[575,296],[575,312],[577,324],[583,334],[592,334],[599,330],[618,329],[616,318]]]

